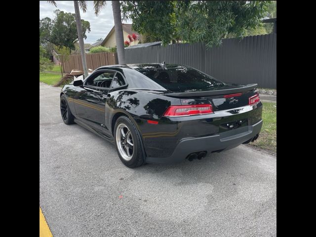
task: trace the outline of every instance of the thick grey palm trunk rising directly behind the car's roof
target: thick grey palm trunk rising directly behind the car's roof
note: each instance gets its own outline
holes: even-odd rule
[[[114,17],[115,40],[117,42],[118,63],[126,64],[125,56],[124,56],[124,38],[123,38],[122,20],[120,16],[119,1],[112,1],[112,10],[113,10],[113,17]]]

